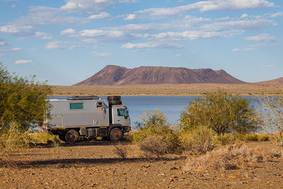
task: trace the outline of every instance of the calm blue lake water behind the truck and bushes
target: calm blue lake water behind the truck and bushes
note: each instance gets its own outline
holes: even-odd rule
[[[250,96],[243,96],[251,99]],[[63,96],[52,96],[51,98],[66,98]],[[101,96],[100,98],[107,98]],[[200,96],[122,96],[122,101],[129,108],[129,117],[131,118],[131,126],[134,128],[134,122],[140,121],[140,116],[144,110],[149,110],[151,113],[158,108],[166,115],[168,122],[171,124],[180,119],[180,114],[190,102]],[[255,100],[251,101],[250,105],[254,105]]]

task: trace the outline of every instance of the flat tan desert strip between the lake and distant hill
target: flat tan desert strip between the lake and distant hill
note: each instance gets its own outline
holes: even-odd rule
[[[157,84],[126,86],[51,86],[52,96],[197,96],[224,90],[234,95],[276,95],[283,84]]]

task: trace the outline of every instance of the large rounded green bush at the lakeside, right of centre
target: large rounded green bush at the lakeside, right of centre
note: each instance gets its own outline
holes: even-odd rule
[[[195,99],[181,114],[180,127],[193,130],[207,125],[214,133],[252,132],[258,129],[258,120],[250,101],[224,91],[207,93]]]

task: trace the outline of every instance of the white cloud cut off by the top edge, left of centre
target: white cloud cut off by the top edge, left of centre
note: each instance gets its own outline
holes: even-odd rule
[[[87,10],[99,11],[108,8],[113,4],[134,3],[135,0],[67,0],[67,4],[61,6],[60,9],[70,12],[79,12]]]

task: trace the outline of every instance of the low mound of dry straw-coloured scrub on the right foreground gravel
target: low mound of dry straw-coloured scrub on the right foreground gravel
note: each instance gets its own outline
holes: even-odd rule
[[[233,144],[214,149],[202,156],[187,159],[185,171],[223,170],[255,167],[256,163],[272,161],[282,156],[275,149],[250,149],[243,144]]]

